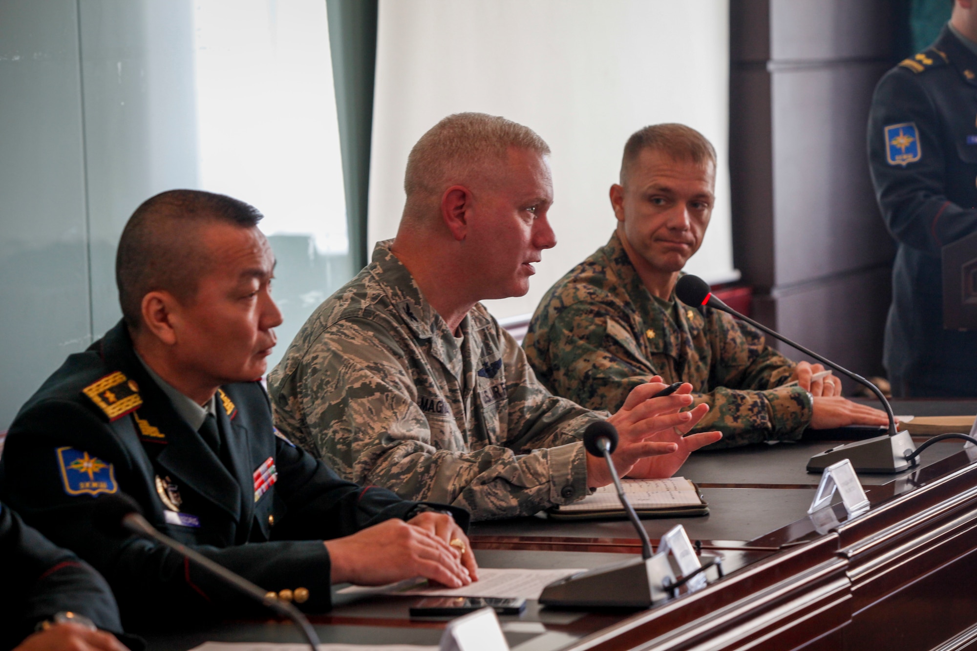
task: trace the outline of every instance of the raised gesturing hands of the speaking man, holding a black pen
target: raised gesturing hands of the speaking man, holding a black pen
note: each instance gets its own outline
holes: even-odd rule
[[[676,430],[673,430],[673,427],[679,427],[677,431],[689,431],[705,412],[708,412],[708,407],[705,406],[704,410],[700,407],[691,412],[679,411],[691,405],[693,401],[692,396],[689,395],[692,385],[688,383],[670,396],[653,398],[652,396],[666,386],[660,379],[656,376],[651,382],[635,387],[620,411],[608,418],[608,422],[617,429],[617,448],[611,457],[614,459],[618,474],[622,477],[628,474],[636,476],[633,475],[634,466],[647,463],[649,457],[674,456],[673,461],[659,463],[659,466],[664,469],[674,465],[677,469],[693,450],[722,438],[718,432],[696,434],[690,437],[689,441],[675,435]],[[671,432],[671,435],[667,432]],[[639,471],[645,472],[643,465],[639,466]],[[674,472],[674,469],[671,472]],[[658,476],[667,477],[671,472]],[[604,460],[587,455],[587,486],[597,488],[606,486],[612,481],[614,479]]]

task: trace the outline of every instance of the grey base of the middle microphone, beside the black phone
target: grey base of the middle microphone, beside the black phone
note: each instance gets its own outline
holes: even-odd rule
[[[555,581],[539,603],[556,608],[649,608],[665,601],[663,585],[675,583],[667,552],[634,558]]]

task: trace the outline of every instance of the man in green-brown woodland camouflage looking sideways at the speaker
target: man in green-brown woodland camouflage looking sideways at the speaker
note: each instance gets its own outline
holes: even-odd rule
[[[752,326],[675,298],[709,224],[715,170],[712,145],[685,125],[628,139],[611,187],[614,235],[553,285],[530,322],[523,347],[536,375],[559,396],[612,410],[654,375],[689,382],[710,408],[698,427],[723,433],[717,447],[798,439],[807,426],[886,424],[841,398],[836,377],[812,382],[821,365],[795,365]]]

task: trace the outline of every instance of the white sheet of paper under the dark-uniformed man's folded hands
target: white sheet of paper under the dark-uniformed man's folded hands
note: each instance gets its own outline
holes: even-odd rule
[[[464,587],[404,586],[404,582],[389,586],[349,586],[340,594],[382,593],[425,596],[482,596],[504,599],[538,599],[543,588],[554,581],[583,570],[525,570],[513,568],[479,568],[480,579]]]

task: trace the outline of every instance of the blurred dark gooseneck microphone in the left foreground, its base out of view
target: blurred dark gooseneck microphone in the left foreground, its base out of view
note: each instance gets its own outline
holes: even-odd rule
[[[265,604],[279,617],[284,617],[294,622],[302,631],[306,641],[309,642],[312,651],[318,651],[319,636],[316,634],[315,629],[312,628],[312,625],[309,624],[309,620],[302,614],[302,611],[287,601],[282,601],[271,596],[273,594],[272,592],[266,592],[260,587],[255,586],[247,579],[237,576],[223,565],[219,565],[186,545],[159,533],[143,517],[141,511],[142,509],[135,499],[123,493],[117,493],[115,495],[104,496],[96,501],[93,520],[96,528],[106,534],[106,536],[126,538],[131,534],[135,534],[141,538],[159,542],[182,556],[189,558],[199,567],[219,577],[225,584],[234,586],[256,601]]]

